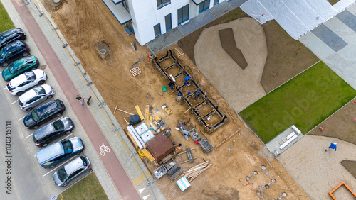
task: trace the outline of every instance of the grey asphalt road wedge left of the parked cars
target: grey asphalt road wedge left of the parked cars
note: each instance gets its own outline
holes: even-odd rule
[[[0,70],[2,70],[2,68],[3,67],[1,67]],[[49,199],[50,194],[44,186],[41,174],[38,172],[38,163],[33,159],[33,154],[25,141],[26,138],[23,137],[22,130],[19,128],[22,121],[18,121],[16,116],[14,116],[11,109],[12,107],[9,106],[11,102],[6,98],[6,95],[9,95],[7,94],[8,91],[3,88],[3,84],[1,84],[0,131],[2,134],[0,138],[0,199]],[[11,123],[11,135],[9,135],[9,137],[11,138],[10,155],[12,157],[5,157],[7,136],[5,134],[6,121]],[[11,159],[11,162],[4,162],[8,158]],[[11,174],[5,174],[6,169],[11,169]],[[11,176],[11,188],[9,188],[11,189],[11,194],[6,194],[8,189],[4,188],[8,175]]]

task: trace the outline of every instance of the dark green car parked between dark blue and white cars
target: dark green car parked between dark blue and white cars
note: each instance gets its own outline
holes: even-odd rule
[[[9,67],[5,68],[5,70],[2,70],[2,78],[4,81],[8,82],[23,72],[36,70],[39,65],[40,63],[34,55],[31,55],[30,57],[23,57],[20,60],[16,60]]]

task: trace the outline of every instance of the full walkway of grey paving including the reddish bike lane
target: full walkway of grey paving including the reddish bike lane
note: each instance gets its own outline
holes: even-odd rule
[[[13,5],[11,5],[11,2]],[[39,17],[39,13],[33,4],[26,6],[21,0],[2,1],[2,3],[11,18],[19,18],[20,16],[26,28],[28,28],[28,33],[33,36],[33,40],[35,40],[38,49],[48,63],[48,67],[56,77],[70,106],[72,106],[90,138],[101,162],[105,165],[105,169],[97,167],[94,172],[108,198],[164,199],[155,182],[152,182],[153,178],[140,157],[138,155],[130,156],[135,152],[135,148],[132,147],[130,140],[127,139],[97,89],[93,84],[87,86],[87,82],[90,82],[90,80],[87,75],[83,75],[83,67],[73,64],[74,62],[70,58],[73,52],[68,49],[68,52],[70,52],[68,53],[62,47],[66,41],[59,31],[56,35],[52,30],[51,23],[53,26],[55,25],[50,15],[44,11],[45,14]],[[14,6],[16,10],[9,9],[11,6]],[[43,8],[42,5],[41,8]],[[21,21],[14,21],[14,23],[15,26],[19,26]],[[59,39],[64,42],[61,43]],[[78,62],[75,55],[73,57]],[[80,106],[75,99],[77,94],[85,97],[85,99],[92,96],[91,106]],[[105,156],[101,156],[100,145],[108,146],[110,152],[105,152]],[[147,186],[149,182],[152,184]]]

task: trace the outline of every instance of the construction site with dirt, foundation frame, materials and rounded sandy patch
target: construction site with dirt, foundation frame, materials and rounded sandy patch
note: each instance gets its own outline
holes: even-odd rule
[[[238,115],[318,61],[278,23],[236,9],[152,53],[102,1],[41,1],[166,199],[311,199]]]

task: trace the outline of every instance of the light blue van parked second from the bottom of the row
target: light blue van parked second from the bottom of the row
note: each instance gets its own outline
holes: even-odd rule
[[[38,150],[38,152],[36,152],[36,157],[38,163],[43,168],[52,168],[59,162],[67,160],[73,155],[79,155],[83,150],[83,141],[78,137],[74,137],[69,140],[61,140],[46,148]]]

